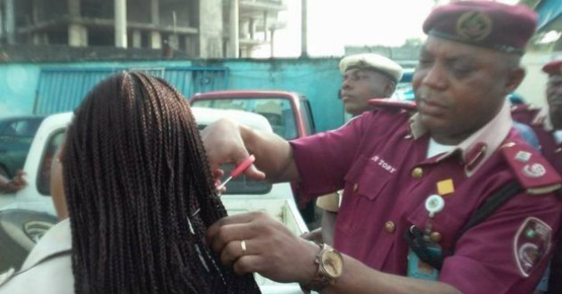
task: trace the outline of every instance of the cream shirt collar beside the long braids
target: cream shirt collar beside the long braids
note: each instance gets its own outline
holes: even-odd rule
[[[29,256],[21,265],[21,272],[29,270],[48,257],[68,252],[72,249],[72,236],[70,234],[70,219],[66,218],[54,225],[29,252]]]

